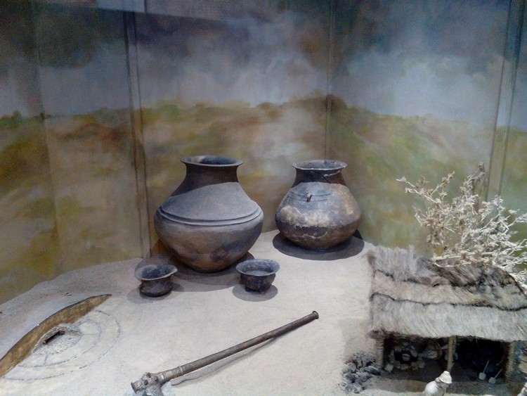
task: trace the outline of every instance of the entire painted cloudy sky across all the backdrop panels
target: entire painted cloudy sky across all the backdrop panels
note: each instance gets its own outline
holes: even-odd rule
[[[297,3],[223,20],[137,13],[143,106],[174,99],[256,106],[325,94],[329,2]],[[493,124],[508,1],[335,4],[333,94],[377,113]],[[20,30],[0,42],[11,62],[0,65],[0,113],[32,113],[39,101],[51,114],[129,106],[121,13],[41,5],[33,28],[39,80]],[[527,105],[526,41],[515,109]],[[515,110],[513,124],[527,129],[524,113]]]

